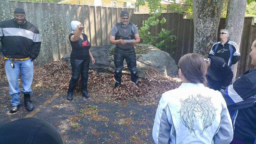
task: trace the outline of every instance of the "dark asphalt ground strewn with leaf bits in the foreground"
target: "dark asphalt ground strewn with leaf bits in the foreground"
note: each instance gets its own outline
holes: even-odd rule
[[[85,99],[74,94],[68,101],[65,92],[33,88],[34,110],[21,106],[9,113],[8,83],[0,83],[0,124],[35,117],[52,124],[64,144],[152,144],[152,127],[156,105],[141,106],[136,101],[114,102],[100,97]]]

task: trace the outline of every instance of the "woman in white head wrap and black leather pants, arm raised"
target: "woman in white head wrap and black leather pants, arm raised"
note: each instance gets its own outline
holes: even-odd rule
[[[72,33],[69,34],[70,44],[72,46],[72,52],[70,54],[70,63],[72,66],[72,76],[70,78],[69,87],[68,87],[68,100],[72,100],[72,95],[76,83],[81,75],[81,85],[82,85],[82,94],[84,97],[89,98],[90,95],[87,92],[87,80],[88,80],[88,71],[90,58],[92,64],[95,60],[90,51],[91,44],[82,31],[84,26],[81,22],[72,21],[71,22]]]

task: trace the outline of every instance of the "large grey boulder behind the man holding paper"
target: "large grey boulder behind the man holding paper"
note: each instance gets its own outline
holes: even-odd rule
[[[114,47],[115,45],[92,46],[90,50],[95,59],[95,63],[90,63],[90,69],[104,71],[109,69],[109,67],[114,68]],[[143,77],[144,71],[149,66],[156,68],[164,76],[177,74],[177,65],[167,52],[150,44],[136,44],[134,47],[139,76]],[[62,60],[65,60],[68,64],[68,68],[71,69],[70,52],[67,53]],[[126,61],[124,61],[123,72],[129,73]]]

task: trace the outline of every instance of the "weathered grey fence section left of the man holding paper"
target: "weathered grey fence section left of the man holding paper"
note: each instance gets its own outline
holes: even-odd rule
[[[133,13],[130,8],[0,0],[0,21],[14,18],[16,7],[24,8],[26,20],[40,32],[42,45],[35,61],[38,66],[59,60],[71,51],[68,35],[72,31],[72,20],[80,21],[92,45],[99,46],[109,44],[110,30],[118,22],[122,10]]]

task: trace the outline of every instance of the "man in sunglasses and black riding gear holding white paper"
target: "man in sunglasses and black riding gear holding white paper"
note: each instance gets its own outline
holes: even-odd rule
[[[122,11],[120,21],[117,22],[110,32],[110,44],[115,44],[114,64],[115,64],[115,88],[121,84],[124,59],[131,72],[132,81],[138,86],[138,71],[136,67],[136,55],[134,44],[140,42],[140,35],[137,27],[129,22],[129,13]]]

